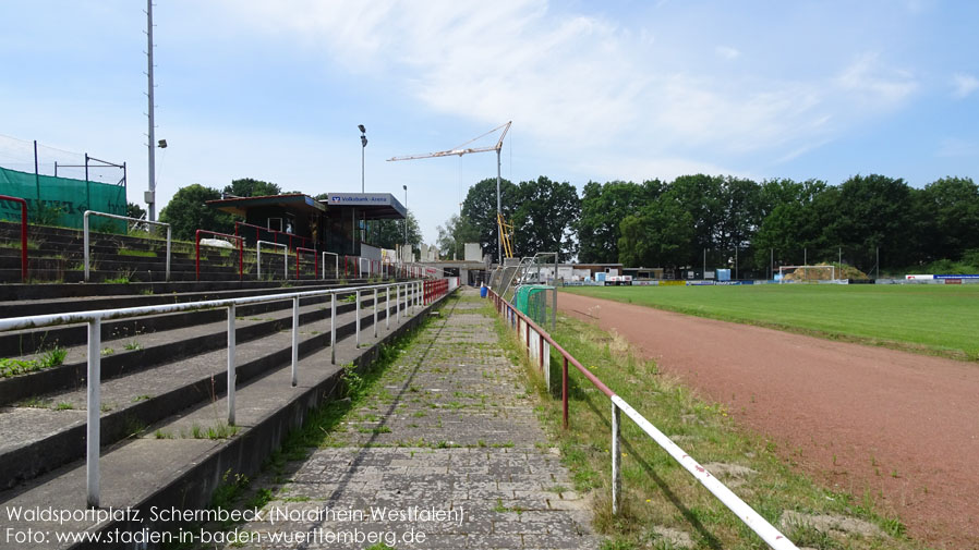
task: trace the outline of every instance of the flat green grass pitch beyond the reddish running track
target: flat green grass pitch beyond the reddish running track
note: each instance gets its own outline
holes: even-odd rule
[[[566,292],[979,360],[979,285],[569,286]]]

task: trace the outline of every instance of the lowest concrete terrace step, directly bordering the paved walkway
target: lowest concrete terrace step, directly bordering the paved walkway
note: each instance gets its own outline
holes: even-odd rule
[[[337,345],[337,366],[353,363],[363,365],[377,354],[375,344],[388,341],[425,316],[402,318],[391,322],[390,330],[382,330],[379,339],[368,338],[366,346],[355,349],[352,339]],[[217,401],[207,401],[179,417],[162,420],[143,431],[141,437],[130,438],[104,449],[101,468],[101,509],[126,508],[141,510],[143,518],[150,506],[177,506],[179,509],[206,508],[211,493],[222,482],[227,472],[252,475],[275,450],[291,428],[302,424],[311,408],[331,399],[339,381],[339,368],[329,363],[330,350],[322,349],[304,356],[299,363],[299,386],[290,384],[290,368],[267,369],[265,376],[255,377],[249,383],[239,383],[235,396],[239,431],[227,440],[193,439],[180,437],[188,433],[188,423],[203,427],[219,423],[225,415],[226,403],[218,392]],[[105,419],[104,419],[105,424]],[[157,439],[155,433],[170,433],[170,438]],[[192,433],[191,433],[192,436]],[[29,487],[0,492],[4,506],[21,510],[48,506],[57,503],[59,510],[84,510],[85,464],[83,461],[65,465],[46,474]],[[173,525],[155,525],[155,529],[169,529]],[[86,545],[57,543],[53,531],[99,533],[106,529],[136,531],[147,525],[125,521],[101,523],[70,521],[61,525],[26,522],[5,523],[13,529],[45,529],[50,539],[41,542],[14,545],[0,540],[0,548],[85,548]],[[95,545],[88,545],[92,547]],[[105,548],[105,546],[97,546]]]

